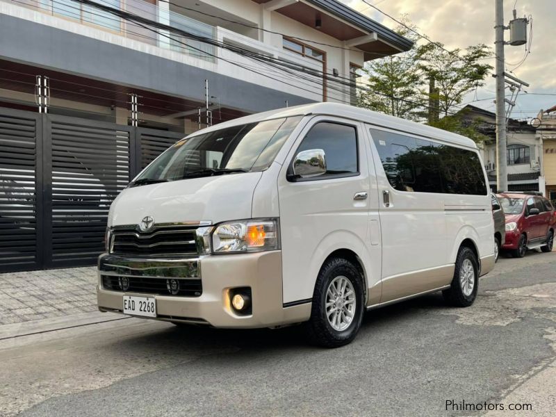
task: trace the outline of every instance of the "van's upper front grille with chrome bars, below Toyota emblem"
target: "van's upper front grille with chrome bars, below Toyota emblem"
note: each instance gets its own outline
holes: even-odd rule
[[[199,224],[157,224],[150,231],[136,226],[111,229],[110,253],[123,256],[197,256]]]

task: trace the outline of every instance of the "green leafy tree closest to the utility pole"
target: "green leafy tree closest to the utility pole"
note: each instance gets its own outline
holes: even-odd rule
[[[436,101],[439,111],[447,116],[468,92],[484,85],[492,66],[482,63],[482,59],[491,56],[491,49],[478,44],[448,53],[439,46],[443,44],[421,45],[416,51],[416,61],[423,78],[434,80],[436,87],[436,93],[424,94]]]

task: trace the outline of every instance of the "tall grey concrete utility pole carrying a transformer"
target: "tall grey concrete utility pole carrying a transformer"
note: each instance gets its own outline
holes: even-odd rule
[[[504,4],[496,1],[496,189],[498,193],[508,190],[506,157],[506,103],[504,83]]]

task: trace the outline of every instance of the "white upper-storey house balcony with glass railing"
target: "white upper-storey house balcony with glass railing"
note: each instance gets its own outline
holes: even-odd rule
[[[160,6],[142,0],[97,0],[97,3],[177,28],[205,38],[209,42],[228,45],[230,49],[215,47],[213,44],[192,40],[153,26],[129,22],[113,13],[72,0],[0,0],[0,13],[190,65],[207,71],[208,79],[211,79],[210,72],[213,72],[278,90],[285,95],[300,97],[302,102],[323,99],[322,63],[313,62],[229,28],[186,17],[163,7],[167,6],[167,3],[159,3]],[[279,70],[255,58],[236,54],[231,50],[234,47],[266,57],[287,60],[301,71],[300,75],[296,70]],[[212,91],[218,96],[218,90],[215,91],[213,88]],[[345,101],[344,94],[347,95],[348,92],[334,90],[329,99]],[[300,104],[300,101],[285,101],[288,101],[287,98],[281,101],[280,105]]]

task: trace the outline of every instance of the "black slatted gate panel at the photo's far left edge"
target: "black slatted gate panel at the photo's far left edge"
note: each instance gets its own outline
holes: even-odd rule
[[[37,115],[0,113],[0,271],[33,268],[37,254]]]

